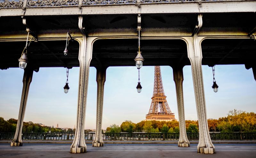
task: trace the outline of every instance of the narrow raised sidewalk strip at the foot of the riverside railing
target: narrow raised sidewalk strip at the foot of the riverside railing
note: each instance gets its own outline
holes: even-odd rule
[[[11,143],[12,140],[0,140],[0,143]],[[72,144],[73,140],[23,140],[22,143],[41,144]],[[178,144],[177,140],[105,140],[104,144]],[[92,140],[85,141],[92,144]],[[198,144],[198,140],[189,141],[190,144]],[[256,144],[256,140],[212,140],[213,144]]]

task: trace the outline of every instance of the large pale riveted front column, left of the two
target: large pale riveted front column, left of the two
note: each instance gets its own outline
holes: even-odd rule
[[[92,59],[92,38],[86,38],[83,35],[83,39],[80,40],[79,48],[79,84],[78,84],[78,101],[77,101],[77,114],[76,114],[76,132],[73,143],[70,147],[70,153],[85,153],[86,144],[84,141],[84,121],[85,121],[85,109],[88,89],[88,77],[90,62]]]

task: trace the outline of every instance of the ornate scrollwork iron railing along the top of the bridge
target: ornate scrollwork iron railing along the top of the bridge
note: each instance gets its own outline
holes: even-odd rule
[[[197,3],[197,2],[236,2],[253,0],[0,0],[1,8],[29,7],[68,7],[123,4],[163,4],[163,3]],[[25,4],[24,4],[25,3]]]

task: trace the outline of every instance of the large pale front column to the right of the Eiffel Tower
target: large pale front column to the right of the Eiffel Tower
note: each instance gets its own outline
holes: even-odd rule
[[[188,42],[188,58],[191,63],[192,77],[194,83],[194,91],[196,97],[196,110],[199,124],[199,143],[197,152],[202,154],[213,154],[215,147],[209,134],[206,105],[204,97],[204,84],[202,74],[202,50],[200,39],[197,34],[194,37],[189,37]]]

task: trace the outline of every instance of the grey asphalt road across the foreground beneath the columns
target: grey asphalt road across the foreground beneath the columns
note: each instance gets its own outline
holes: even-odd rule
[[[87,153],[70,154],[70,144],[23,144],[10,147],[0,144],[0,157],[6,158],[255,158],[256,144],[215,144],[215,154],[197,154],[196,144],[177,147],[176,144],[106,144],[104,147],[87,145]]]

